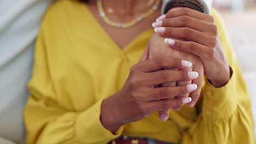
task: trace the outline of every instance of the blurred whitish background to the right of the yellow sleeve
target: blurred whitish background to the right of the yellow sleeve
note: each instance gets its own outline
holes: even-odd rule
[[[228,28],[237,59],[252,95],[256,124],[256,0],[213,0],[213,7],[223,16]]]

